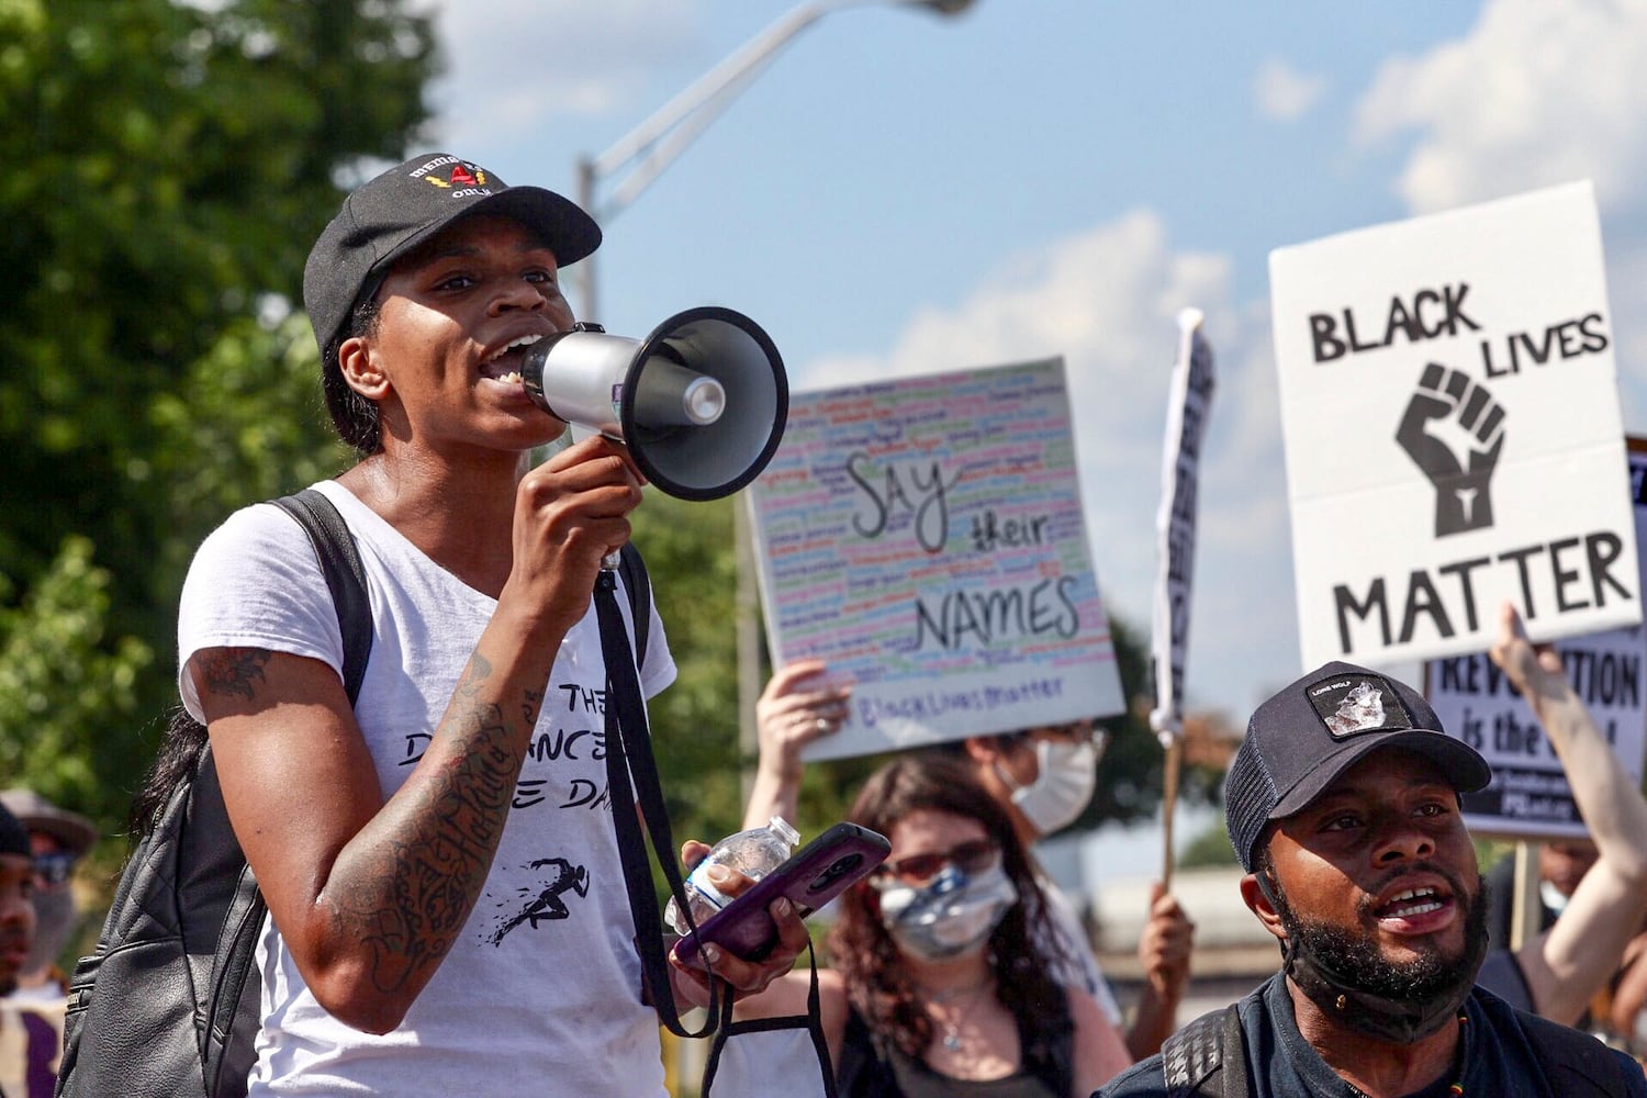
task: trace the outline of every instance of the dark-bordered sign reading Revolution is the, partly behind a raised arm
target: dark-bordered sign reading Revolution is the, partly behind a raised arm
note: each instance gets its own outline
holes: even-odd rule
[[[1637,543],[1647,537],[1647,443],[1629,440]],[[1647,581],[1647,575],[1642,576]],[[1647,630],[1640,626],[1568,637],[1556,645],[1573,690],[1584,701],[1624,769],[1640,784],[1647,752]],[[1578,838],[1584,821],[1561,762],[1486,654],[1431,660],[1425,693],[1441,724],[1492,765],[1492,784],[1464,795],[1471,831],[1519,838]]]

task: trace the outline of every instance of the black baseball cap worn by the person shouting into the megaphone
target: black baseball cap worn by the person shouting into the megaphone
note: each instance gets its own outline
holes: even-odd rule
[[[539,186],[509,186],[471,160],[423,153],[343,199],[303,267],[303,308],[326,354],[356,303],[377,291],[390,263],[466,214],[486,211],[534,229],[562,267],[601,244],[576,202]]]

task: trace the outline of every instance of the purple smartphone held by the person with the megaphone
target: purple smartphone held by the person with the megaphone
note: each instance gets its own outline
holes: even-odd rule
[[[766,909],[779,896],[789,899],[802,919],[828,904],[886,861],[893,844],[884,835],[837,823],[817,836],[749,891],[698,925],[697,935],[675,943],[675,956],[687,965],[698,958],[698,947],[715,943],[735,955],[758,961],[777,945],[777,924]]]

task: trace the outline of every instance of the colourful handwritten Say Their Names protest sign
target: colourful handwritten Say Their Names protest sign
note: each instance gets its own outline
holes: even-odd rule
[[[774,663],[855,682],[807,757],[1123,710],[1061,359],[791,393],[748,497]]]

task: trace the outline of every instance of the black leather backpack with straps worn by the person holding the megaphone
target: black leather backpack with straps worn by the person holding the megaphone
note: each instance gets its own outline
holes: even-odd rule
[[[366,578],[331,500],[272,500],[308,533],[343,629],[354,703],[372,647]],[[651,584],[641,555],[619,563],[646,658]],[[262,1022],[255,953],[267,907],[234,838],[211,744],[178,708],[133,812],[138,836],[91,956],[69,979],[56,1098],[244,1098]],[[142,805],[161,805],[143,810]]]

